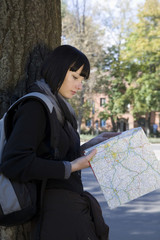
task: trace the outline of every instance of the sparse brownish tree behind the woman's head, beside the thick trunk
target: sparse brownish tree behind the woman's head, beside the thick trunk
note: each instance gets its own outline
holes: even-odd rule
[[[103,36],[103,31],[88,14],[87,4],[90,2],[86,0],[72,0],[68,7],[67,1],[62,1],[62,42],[84,52],[93,69],[101,57],[102,43],[99,40]],[[71,100],[77,114],[79,132],[82,118],[86,115],[84,112],[89,113],[90,109],[84,99],[92,98],[95,82],[96,77],[91,71],[90,79],[84,83],[83,90]]]

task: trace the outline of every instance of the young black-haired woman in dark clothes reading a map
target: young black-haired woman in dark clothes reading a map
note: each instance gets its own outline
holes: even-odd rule
[[[89,73],[87,57],[72,46],[62,45],[50,53],[42,66],[42,79],[29,90],[44,93],[56,101],[51,117],[58,151],[50,147],[50,125],[41,102],[25,100],[13,117],[12,132],[3,152],[2,171],[8,178],[22,182],[48,179],[40,240],[108,239],[108,227],[97,201],[83,191],[80,170],[89,167],[96,153],[93,150],[83,156],[85,148],[116,133],[102,134],[80,146],[75,114],[66,101],[82,89]],[[37,239],[33,233],[37,233],[39,220],[36,223],[32,240]]]

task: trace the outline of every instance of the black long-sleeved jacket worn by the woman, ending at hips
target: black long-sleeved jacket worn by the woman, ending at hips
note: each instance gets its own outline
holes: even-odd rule
[[[19,106],[10,123],[12,131],[3,151],[2,172],[14,180],[26,182],[49,179],[50,188],[81,192],[80,172],[71,174],[66,180],[63,164],[63,161],[72,161],[80,156],[79,137],[75,133],[70,138],[66,124],[61,125],[55,112],[52,119],[53,135],[59,139],[59,159],[54,159],[51,154],[54,149],[51,149],[50,124],[43,104],[38,100],[26,100]]]

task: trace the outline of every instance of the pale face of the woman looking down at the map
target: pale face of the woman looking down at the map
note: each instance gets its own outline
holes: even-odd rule
[[[62,86],[59,89],[59,93],[65,98],[72,98],[78,90],[82,89],[82,81],[84,77],[80,76],[83,66],[81,66],[76,72],[70,70],[67,71]]]

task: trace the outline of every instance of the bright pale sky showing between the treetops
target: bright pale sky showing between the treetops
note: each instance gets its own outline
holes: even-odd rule
[[[75,4],[77,0],[66,0],[69,9],[72,9],[73,3]],[[130,10],[127,14],[127,19],[131,19],[132,21],[136,21],[137,9],[139,5],[143,5],[146,0],[129,0]],[[78,0],[80,13],[83,11],[83,0]],[[118,4],[125,3],[124,0],[85,0],[86,3],[86,15],[91,15],[94,19],[95,24],[99,25],[99,28],[104,29],[105,37],[103,38],[104,45],[106,47],[113,45],[116,43],[117,35],[116,29],[110,28],[109,24],[112,25],[111,19],[115,18],[116,21],[119,21],[119,14],[121,14],[120,10],[116,7]],[[121,4],[121,5],[122,5]],[[94,9],[96,10],[94,12]],[[106,9],[106,11],[103,11]],[[109,14],[107,16],[108,9],[110,9]],[[98,14],[97,11],[99,10]],[[75,11],[75,9],[73,10]],[[110,18],[110,16],[111,18]],[[108,18],[107,18],[108,17]],[[107,25],[109,26],[107,28]],[[118,28],[117,28],[118,29]]]

